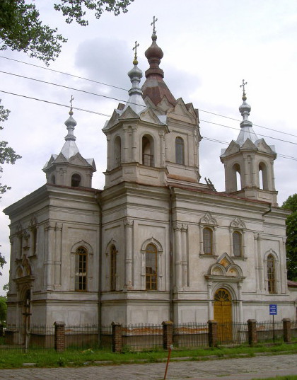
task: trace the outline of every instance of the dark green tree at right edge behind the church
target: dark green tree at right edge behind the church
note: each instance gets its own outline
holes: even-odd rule
[[[297,281],[297,194],[290,195],[281,207],[292,211],[286,218],[286,260],[288,279]]]

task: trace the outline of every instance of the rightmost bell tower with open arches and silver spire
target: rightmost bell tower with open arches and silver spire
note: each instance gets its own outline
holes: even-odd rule
[[[243,104],[239,111],[243,116],[240,133],[227,149],[221,152],[221,162],[225,166],[226,192],[252,200],[262,200],[277,206],[277,192],[274,185],[274,146],[259,139],[248,120],[251,107],[246,103],[243,81]]]

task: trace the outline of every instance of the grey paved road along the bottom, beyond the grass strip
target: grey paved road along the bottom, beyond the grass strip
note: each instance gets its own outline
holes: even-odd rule
[[[1,369],[6,380],[162,380],[165,363],[121,364],[83,368]],[[166,380],[249,380],[297,374],[297,355],[170,362]]]

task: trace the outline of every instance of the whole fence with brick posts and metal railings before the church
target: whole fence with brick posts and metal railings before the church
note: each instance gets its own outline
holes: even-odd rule
[[[7,326],[0,336],[0,350],[71,350],[86,348],[123,352],[124,350],[174,347],[212,347],[217,345],[254,345],[257,342],[291,342],[297,338],[297,321],[247,323],[183,323],[161,325],[141,323],[110,326]]]

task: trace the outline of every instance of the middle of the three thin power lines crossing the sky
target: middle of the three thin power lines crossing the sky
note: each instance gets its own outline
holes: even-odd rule
[[[40,83],[42,83],[42,84],[50,84],[50,85],[52,85],[52,86],[57,86],[57,87],[67,88],[67,89],[69,89],[69,90],[78,91],[78,92],[81,92],[81,93],[88,93],[88,94],[90,94],[90,95],[93,95],[93,96],[99,96],[99,97],[101,97],[101,98],[112,99],[112,100],[117,100],[117,101],[120,101],[120,102],[128,103],[128,102],[126,102],[126,101],[123,100],[123,99],[113,98],[112,96],[106,96],[106,95],[102,95],[102,94],[98,94],[98,93],[93,93],[93,92],[91,92],[91,91],[81,90],[81,89],[79,89],[79,88],[74,88],[74,87],[64,86],[64,85],[62,85],[62,84],[55,84],[55,83],[53,83],[53,82],[49,82],[49,81],[42,81],[41,79],[31,78],[30,76],[23,76],[23,75],[21,75],[21,74],[13,74],[13,73],[10,73],[10,72],[8,72],[8,71],[1,71],[1,70],[0,70],[0,73],[8,74],[8,75],[12,75],[12,76],[18,76],[18,77],[23,78],[23,79],[30,79],[31,81],[37,81],[37,82],[40,82]],[[129,102],[129,103],[130,103],[130,104],[138,105],[137,103],[131,103],[131,102]],[[143,106],[143,107],[145,108],[144,105],[141,105],[141,106]],[[214,113],[214,115],[218,115],[218,114],[215,114],[215,113]],[[229,117],[228,117],[228,118],[229,118]],[[233,120],[235,120],[235,119],[233,119]],[[237,131],[240,130],[240,129],[238,129],[238,128],[230,127],[230,126],[228,126],[228,125],[223,125],[223,124],[219,124],[219,123],[216,123],[216,122],[210,122],[209,120],[202,120],[202,119],[200,119],[200,121],[202,121],[202,122],[207,122],[207,123],[212,124],[212,125],[219,125],[220,127],[225,127],[225,128],[229,128],[229,129],[235,129],[235,130],[237,130]],[[291,142],[291,141],[284,140],[284,139],[278,139],[277,137],[267,136],[267,135],[265,135],[265,134],[259,134],[259,136],[262,136],[262,137],[268,137],[269,139],[275,139],[275,140],[277,140],[277,141],[281,141],[281,142],[286,142],[286,143],[288,143],[288,144],[297,145],[296,142]],[[293,136],[293,135],[292,135],[292,136]]]

